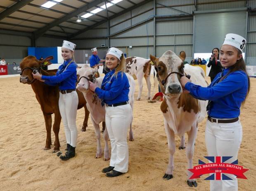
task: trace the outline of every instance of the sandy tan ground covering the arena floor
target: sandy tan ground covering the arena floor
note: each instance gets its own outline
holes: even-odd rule
[[[207,79],[209,81],[209,79]],[[137,82],[136,82],[137,84]],[[138,93],[136,86],[135,98]],[[30,85],[19,83],[19,77],[0,78],[0,190],[1,191],[185,191],[209,190],[207,175],[197,179],[198,187],[186,184],[185,150],[178,150],[176,140],[174,178],[162,179],[168,164],[168,147],[164,130],[161,102],[148,103],[144,81],[142,100],[135,102],[133,132],[135,141],[129,145],[129,171],[115,178],[105,177],[102,168],[109,166],[103,158],[95,159],[96,138],[89,119],[88,130],[78,131],[76,157],[61,161],[52,149],[44,151],[45,123]],[[256,172],[256,79],[251,79],[251,92],[242,108],[243,140],[239,150],[239,165],[250,170],[248,180],[239,179],[240,191],[255,190]],[[78,111],[77,126],[81,129],[84,110]],[[206,119],[199,124],[193,165],[198,159],[207,162],[204,144]],[[64,128],[60,128],[61,150],[65,149]],[[52,142],[54,133],[52,132]],[[110,143],[109,143],[110,145]],[[102,139],[102,148],[104,142]]]

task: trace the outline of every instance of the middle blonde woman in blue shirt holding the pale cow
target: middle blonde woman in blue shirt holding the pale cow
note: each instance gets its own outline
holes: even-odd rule
[[[111,47],[106,55],[106,65],[110,72],[105,75],[101,89],[92,82],[89,82],[89,88],[106,105],[105,122],[111,142],[111,158],[109,167],[102,172],[107,172],[107,177],[116,177],[128,171],[127,131],[132,120],[132,108],[128,104],[130,85],[121,50]]]

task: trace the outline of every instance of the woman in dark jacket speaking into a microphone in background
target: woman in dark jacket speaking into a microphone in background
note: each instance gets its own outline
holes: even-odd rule
[[[209,72],[209,77],[211,77],[211,82],[216,77],[216,75],[222,71],[222,66],[219,61],[219,54],[220,50],[218,48],[214,48],[212,50],[212,55],[209,60],[209,63],[207,64],[207,67],[211,67],[211,70]]]

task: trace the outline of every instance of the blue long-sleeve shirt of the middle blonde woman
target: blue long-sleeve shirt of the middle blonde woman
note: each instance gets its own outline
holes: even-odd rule
[[[102,81],[102,89],[96,88],[95,93],[105,103],[111,105],[115,103],[126,102],[129,100],[129,81],[125,73],[118,72],[117,77],[113,76],[115,70],[107,73]]]

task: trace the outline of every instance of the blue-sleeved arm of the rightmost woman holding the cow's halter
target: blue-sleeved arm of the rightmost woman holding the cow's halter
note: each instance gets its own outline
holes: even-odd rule
[[[242,72],[234,72],[228,75],[223,81],[214,86],[202,87],[191,82],[188,82],[184,77],[180,82],[187,91],[190,91],[190,95],[200,100],[217,100],[225,95],[228,95],[238,89],[244,87],[246,81],[246,75]]]

